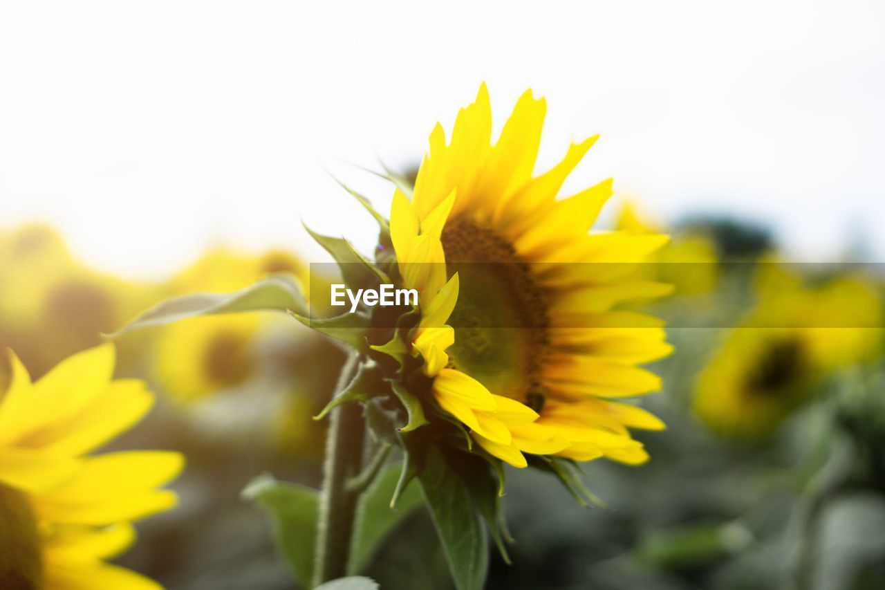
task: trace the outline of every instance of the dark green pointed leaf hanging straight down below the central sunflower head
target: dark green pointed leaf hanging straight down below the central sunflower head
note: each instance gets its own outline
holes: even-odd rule
[[[450,469],[435,445],[427,448],[418,480],[455,587],[479,590],[489,570],[488,537],[464,480]]]

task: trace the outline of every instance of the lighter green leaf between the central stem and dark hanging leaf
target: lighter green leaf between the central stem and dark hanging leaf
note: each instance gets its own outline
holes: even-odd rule
[[[359,502],[350,571],[364,570],[381,541],[424,503],[418,486],[412,485],[400,494],[396,509],[390,508],[400,470],[396,463],[382,471]]]

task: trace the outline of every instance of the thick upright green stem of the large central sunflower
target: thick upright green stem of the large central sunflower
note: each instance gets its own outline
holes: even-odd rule
[[[350,383],[357,366],[358,356],[352,355],[342,368],[338,392]],[[359,491],[349,489],[347,484],[362,470],[365,438],[366,423],[359,404],[346,403],[332,410],[326,439],[323,487],[319,496],[313,586],[347,575],[359,499]]]

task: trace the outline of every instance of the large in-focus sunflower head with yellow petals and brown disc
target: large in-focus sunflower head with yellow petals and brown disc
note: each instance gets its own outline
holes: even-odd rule
[[[625,265],[575,263],[640,262],[667,238],[589,234],[611,181],[558,199],[596,136],[533,176],[545,110],[526,92],[493,146],[483,85],[449,144],[435,127],[412,199],[396,190],[390,237],[422,314],[413,353],[439,406],[506,462],[523,467],[529,453],[642,463],[628,429],[664,425],[619,399],[658,390],[636,365],[671,347],[656,318],[613,308],[669,288],[631,279]]]

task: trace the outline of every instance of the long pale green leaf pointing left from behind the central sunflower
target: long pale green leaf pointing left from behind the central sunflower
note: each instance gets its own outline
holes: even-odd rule
[[[307,304],[295,277],[286,274],[273,275],[233,293],[195,293],[166,299],[128,322],[120,330],[108,334],[107,338],[119,338],[132,330],[165,326],[197,315],[262,310],[289,310],[296,314],[307,314]]]

